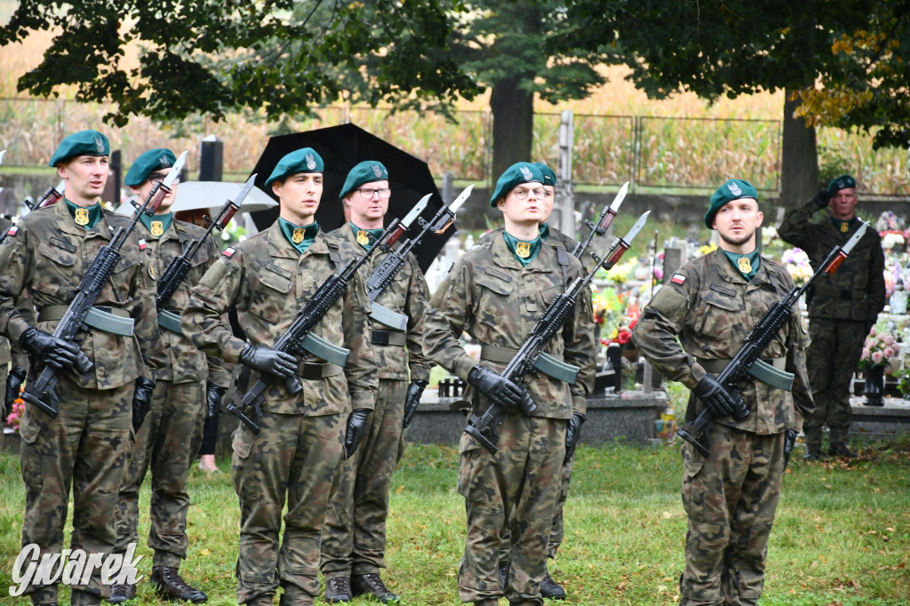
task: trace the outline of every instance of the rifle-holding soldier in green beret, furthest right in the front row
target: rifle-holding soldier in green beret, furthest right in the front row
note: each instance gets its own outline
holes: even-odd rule
[[[632,331],[655,369],[693,390],[692,421],[713,414],[710,454],[682,444],[682,505],[689,519],[681,603],[755,604],[762,595],[768,535],[781,478],[796,432],[814,408],[805,369],[808,334],[799,306],[764,349],[778,373],[792,373],[791,391],[749,378],[737,389],[749,415],[731,414],[736,400],[714,377],[742,347],[764,313],[784,298],[793,281],[781,265],[759,257],[755,232],[762,225],[754,187],[731,179],[711,198],[705,225],[720,248],[684,265],[644,308]]]

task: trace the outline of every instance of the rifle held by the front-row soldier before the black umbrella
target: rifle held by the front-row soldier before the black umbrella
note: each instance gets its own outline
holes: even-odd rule
[[[272,348],[278,351],[285,351],[291,355],[297,356],[307,351],[314,356],[332,362],[338,366],[344,366],[348,360],[348,349],[329,343],[325,339],[310,334],[313,328],[319,324],[319,320],[335,305],[346,292],[348,292],[348,282],[357,273],[357,270],[367,262],[369,256],[379,248],[380,245],[390,247],[401,237],[405,229],[400,229],[401,221],[393,220],[389,227],[382,232],[379,239],[372,247],[362,256],[350,259],[338,273],[335,273],[319,285],[319,288],[313,296],[307,301],[307,305],[298,313],[297,318],[291,322],[288,329],[275,341]],[[262,403],[266,399],[266,389],[272,382],[270,377],[259,377],[256,384],[250,388],[247,393],[243,394],[238,404],[233,399],[227,402],[225,409],[227,412],[235,415],[246,425],[253,433],[259,433],[259,419],[262,418]],[[285,389],[290,395],[296,395],[303,389],[297,377],[285,379]]]

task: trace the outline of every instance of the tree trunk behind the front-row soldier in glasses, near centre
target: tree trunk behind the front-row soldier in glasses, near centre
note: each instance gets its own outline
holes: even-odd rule
[[[492,182],[516,162],[532,162],[534,94],[519,88],[521,76],[511,76],[493,85],[490,110],[493,113]]]

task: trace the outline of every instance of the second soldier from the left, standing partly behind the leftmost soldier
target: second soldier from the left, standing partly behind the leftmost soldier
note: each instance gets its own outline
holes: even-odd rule
[[[167,177],[168,169],[176,161],[177,157],[170,149],[151,149],[136,158],[124,183],[138,199],[144,200],[155,183]],[[206,235],[202,227],[174,219],[171,205],[177,198],[177,184],[175,181],[173,191],[161,202],[156,214],[139,217],[136,226],[148,276],[155,282],[191,240]],[[202,278],[217,256],[217,244],[207,237],[190,261],[192,269],[167,303],[167,310],[158,314],[167,364],[156,372],[151,410],[136,433],[116,510],[117,547],[126,550],[129,543],[139,539],[139,488],[150,466],[152,498],[148,546],[155,551],[151,581],[161,597],[194,603],[206,601],[207,596],[187,585],[179,574],[180,561],[187,557],[189,542],[187,478],[198,449],[203,416],[209,408],[207,403],[212,409],[220,406],[230,375],[221,369],[217,360],[207,362],[206,355],[184,337],[179,310],[187,305],[189,289]],[[119,603],[135,596],[135,585],[115,585],[110,601]]]

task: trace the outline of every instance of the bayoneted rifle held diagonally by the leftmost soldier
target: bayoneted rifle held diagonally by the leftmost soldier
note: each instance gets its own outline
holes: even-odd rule
[[[170,187],[180,175],[180,171],[186,161],[187,152],[184,152],[177,158],[177,162],[171,167],[165,180],[157,182],[151,191],[148,192],[146,201],[139,208],[139,211],[133,215],[129,225],[117,227],[111,241],[98,251],[95,258],[92,259],[91,265],[88,266],[86,275],[83,276],[82,281],[79,283],[76,297],[70,301],[64,317],[60,319],[60,323],[54,329],[54,337],[62,338],[70,343],[76,343],[76,333],[79,330],[88,329],[86,316],[88,316],[92,305],[94,305],[96,298],[101,293],[101,289],[104,288],[107,279],[110,278],[111,273],[113,273],[114,268],[120,261],[120,248],[123,247],[126,238],[133,232],[142,213],[147,215],[155,214],[158,205],[171,191]],[[86,354],[80,351],[74,365],[76,371],[79,374],[86,374],[94,366],[92,360],[88,359]],[[60,398],[56,393],[56,384],[56,369],[45,365],[38,378],[26,385],[22,398],[29,404],[34,404],[39,409],[42,409],[51,419],[56,419],[57,405],[60,403]],[[47,396],[49,403],[45,403],[43,400],[45,396]]]

